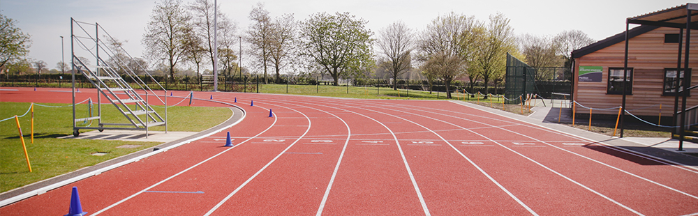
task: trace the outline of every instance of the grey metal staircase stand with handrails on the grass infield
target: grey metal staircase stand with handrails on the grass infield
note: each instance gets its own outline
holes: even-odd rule
[[[72,20],[72,19],[71,19]],[[71,46],[77,44],[79,47],[84,47],[82,50],[82,56],[76,53],[76,49],[73,47],[72,63],[73,63],[73,136],[77,137],[80,134],[80,130],[83,129],[95,129],[100,132],[103,130],[145,130],[146,137],[147,131],[151,127],[165,126],[165,132],[167,132],[167,106],[165,106],[164,118],[158,111],[153,109],[151,99],[156,99],[154,102],[161,105],[167,104],[167,91],[161,84],[156,82],[148,72],[146,72],[147,77],[150,77],[152,81],[161,88],[158,91],[163,94],[157,95],[145,82],[136,75],[132,67],[128,67],[128,63],[137,62],[132,61],[133,58],[126,53],[126,51],[117,44],[117,40],[114,40],[108,33],[101,29],[98,24],[94,25],[97,29],[97,33],[91,35],[84,31],[81,24],[87,24],[84,22],[77,22],[73,20],[71,23],[71,30],[73,29],[73,24],[78,26],[83,31],[81,34],[76,35],[75,32],[71,31],[72,43]],[[100,31],[101,30],[101,31]],[[97,35],[107,36],[105,39],[97,38]],[[107,43],[105,44],[105,41]],[[88,46],[89,44],[89,46]],[[107,45],[109,44],[109,45]],[[92,47],[91,49],[88,49]],[[120,50],[112,50],[120,49]],[[96,65],[89,65],[87,58],[96,59]],[[130,58],[130,59],[129,59]],[[105,61],[104,59],[109,59]],[[131,60],[131,61],[129,61]],[[141,70],[145,70],[143,65],[138,65]],[[75,118],[75,75],[77,73],[82,74],[87,77],[89,82],[97,89],[98,99],[98,115],[90,115],[87,118]],[[121,73],[121,74],[120,74]],[[122,76],[123,75],[123,76]],[[134,86],[138,86],[138,89],[134,89],[130,83],[126,82],[124,77],[131,77],[133,79]],[[109,103],[116,107],[117,111],[121,113],[126,121],[121,121],[118,123],[106,123],[102,118],[102,107],[103,102],[101,100],[106,99]],[[163,100],[164,98],[164,100]],[[97,121],[96,127],[92,124],[87,127],[79,127],[78,122],[87,121]]]

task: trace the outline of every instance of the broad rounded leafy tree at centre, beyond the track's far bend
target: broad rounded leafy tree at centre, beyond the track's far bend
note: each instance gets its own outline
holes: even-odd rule
[[[362,76],[373,63],[373,34],[366,21],[349,13],[315,13],[303,23],[303,54],[332,76],[339,86],[340,77]]]

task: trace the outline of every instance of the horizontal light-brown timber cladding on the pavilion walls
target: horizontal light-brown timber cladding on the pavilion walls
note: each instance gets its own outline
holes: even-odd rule
[[[662,116],[674,114],[674,96],[664,94],[664,69],[676,68],[678,43],[664,43],[664,35],[677,34],[678,29],[660,27],[630,38],[628,68],[632,68],[632,95],[626,97],[626,108],[636,116],[658,116],[660,104]],[[685,32],[684,32],[685,36]],[[691,31],[690,68],[698,66],[698,30]],[[685,46],[685,43],[682,45]],[[684,49],[685,50],[685,49]],[[609,68],[623,68],[625,42],[604,47],[574,59],[574,100],[586,107],[604,109],[621,106],[623,95],[607,94]],[[681,56],[681,68],[684,56]],[[602,66],[601,82],[579,82],[579,66]],[[682,69],[683,70],[683,69]],[[691,76],[692,84],[698,77]],[[686,107],[698,105],[698,94],[688,97]],[[654,107],[652,107],[654,106]],[[681,98],[679,98],[681,106]],[[681,107],[679,107],[681,108]],[[588,114],[589,109],[577,107],[578,114]],[[593,114],[618,114],[618,110],[594,110]]]

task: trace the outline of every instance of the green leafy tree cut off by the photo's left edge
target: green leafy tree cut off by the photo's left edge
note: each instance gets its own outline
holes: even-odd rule
[[[0,68],[6,63],[20,60],[27,55],[31,39],[29,34],[15,26],[15,20],[0,15]]]

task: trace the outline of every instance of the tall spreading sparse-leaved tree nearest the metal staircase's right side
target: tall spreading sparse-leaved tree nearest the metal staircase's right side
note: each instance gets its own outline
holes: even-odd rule
[[[142,43],[155,60],[165,60],[174,81],[174,67],[186,54],[184,47],[190,37],[191,15],[184,10],[181,0],[162,0],[153,8]]]

